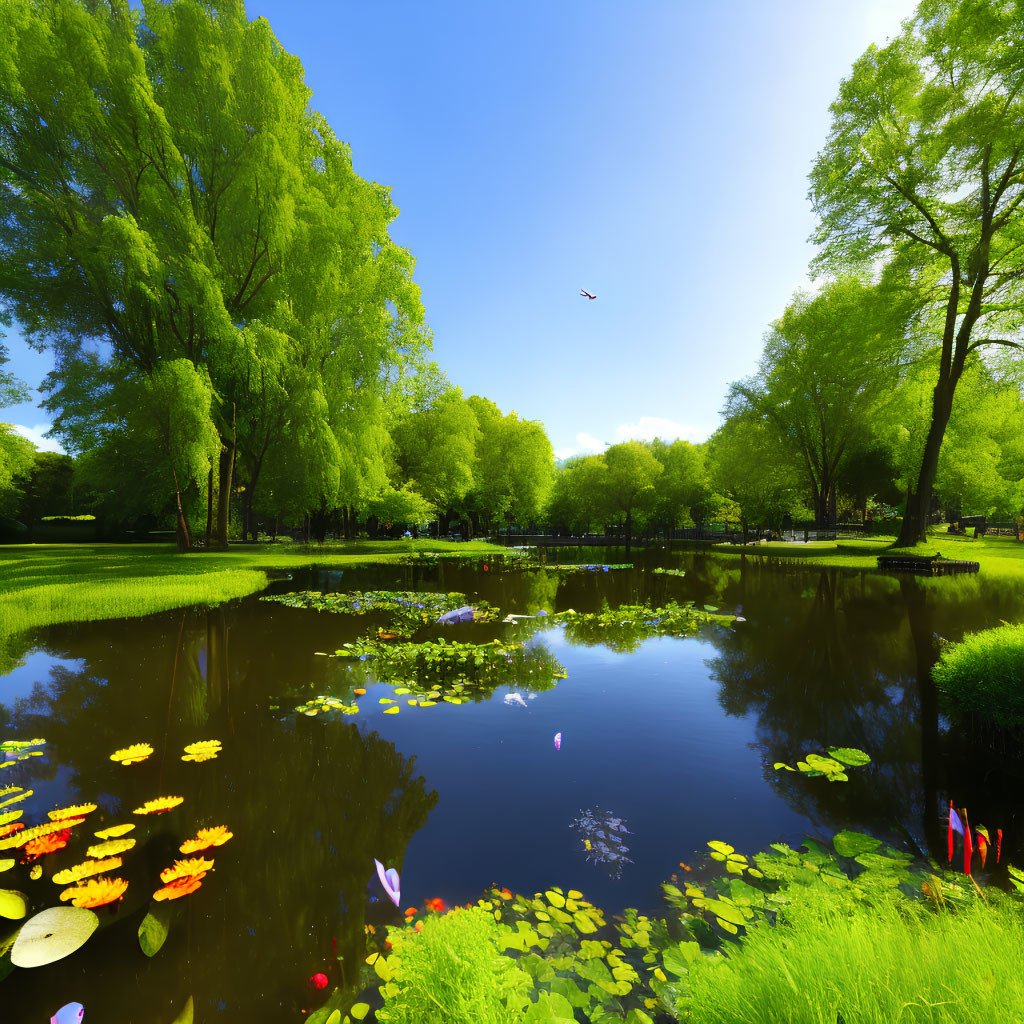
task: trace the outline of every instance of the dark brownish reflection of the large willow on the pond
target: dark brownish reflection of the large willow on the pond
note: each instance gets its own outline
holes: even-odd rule
[[[113,920],[103,915],[108,927],[73,970],[57,963],[7,979],[5,1019],[8,1008],[11,1019],[45,1019],[46,993],[56,1000],[48,1012],[75,999],[97,1019],[170,1019],[164,1008],[191,994],[197,1019],[223,1010],[231,1020],[281,1020],[318,1001],[306,985],[317,971],[354,994],[374,858],[400,868],[437,795],[416,774],[416,758],[376,732],[268,715],[253,700],[251,684],[261,682],[251,669],[271,644],[243,624],[230,631],[232,617],[225,609],[181,616],[169,643],[134,647],[131,672],[117,644],[79,648],[82,669],[56,666],[30,698],[15,701],[14,724],[48,740],[45,758],[18,769],[20,784],[38,788],[59,766],[70,799],[98,797],[102,812],[89,828],[124,820],[158,795],[185,803],[156,819],[144,845],[126,856],[125,903]],[[232,660],[240,641],[248,657]],[[221,738],[224,750],[206,764],[181,762],[184,743],[199,738]],[[116,748],[141,739],[157,748],[150,761],[110,761]],[[35,818],[52,805],[29,806]],[[219,823],[236,840],[216,851],[216,869],[176,908],[167,945],[146,959],[134,933],[161,867],[180,856],[177,844],[196,827]],[[48,876],[75,862],[58,857],[48,858],[38,883],[27,868],[10,883],[33,895],[34,909],[56,902]],[[379,920],[387,909],[371,904],[371,912]]]

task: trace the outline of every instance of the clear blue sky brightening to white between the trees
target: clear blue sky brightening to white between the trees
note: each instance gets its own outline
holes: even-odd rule
[[[391,187],[434,358],[556,454],[702,440],[806,287],[840,79],[909,0],[250,0]],[[585,288],[598,296],[580,296]],[[50,369],[16,330],[12,370]],[[38,438],[34,403],[0,416]]]

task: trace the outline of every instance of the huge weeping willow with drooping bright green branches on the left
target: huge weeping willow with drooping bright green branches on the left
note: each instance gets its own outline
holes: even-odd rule
[[[397,210],[240,0],[7,0],[0,34],[0,303],[55,350],[48,408],[72,451],[97,404],[80,387],[69,403],[82,364],[152,379],[183,359],[209,382],[226,544],[271,447],[311,417],[356,430],[360,393],[428,344]],[[326,441],[292,457],[340,475]]]

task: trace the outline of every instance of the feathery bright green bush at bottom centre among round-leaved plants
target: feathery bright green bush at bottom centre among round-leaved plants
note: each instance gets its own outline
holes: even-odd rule
[[[390,929],[384,979],[386,1024],[518,1024],[529,1004],[529,975],[502,955],[512,930],[482,907],[434,914],[422,930]]]

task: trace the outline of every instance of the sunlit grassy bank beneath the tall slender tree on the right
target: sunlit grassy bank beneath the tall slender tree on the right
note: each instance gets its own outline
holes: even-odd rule
[[[879,555],[904,553],[891,547],[889,538],[864,538],[850,541],[812,541],[810,544],[716,544],[716,554],[745,555],[749,558],[784,558],[803,565],[829,566],[844,569],[878,568]],[[928,544],[907,550],[906,554],[934,555],[957,561],[978,562],[981,571],[991,577],[1020,577],[1024,574],[1024,544],[1009,537],[973,538],[951,537],[935,531],[929,535]]]

